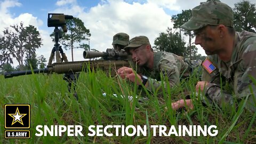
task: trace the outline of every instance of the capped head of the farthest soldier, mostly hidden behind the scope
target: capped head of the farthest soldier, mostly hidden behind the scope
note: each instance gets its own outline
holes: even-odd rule
[[[126,33],[117,33],[113,36],[113,47],[116,51],[121,51],[127,46],[129,42],[129,35]]]

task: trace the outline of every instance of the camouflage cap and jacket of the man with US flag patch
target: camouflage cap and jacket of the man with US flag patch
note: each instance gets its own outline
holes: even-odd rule
[[[233,10],[220,1],[207,1],[192,10],[192,17],[181,28],[197,30],[207,25],[234,27]],[[249,77],[256,78],[256,34],[247,31],[235,33],[229,62],[222,61],[217,54],[208,55],[207,58],[217,68],[203,71],[202,81],[210,82],[204,93],[208,102],[216,102],[222,107],[249,96],[246,108],[256,111],[256,87]],[[231,91],[222,90],[221,84],[228,84]]]

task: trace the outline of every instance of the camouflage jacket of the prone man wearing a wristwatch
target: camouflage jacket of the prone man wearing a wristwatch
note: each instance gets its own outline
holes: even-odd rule
[[[148,82],[145,84],[149,91],[153,89],[161,89],[161,74],[163,79],[167,77],[170,87],[179,84],[180,75],[188,75],[188,64],[181,57],[169,52],[154,53],[153,69],[143,68],[141,74],[148,77]],[[164,83],[166,87],[166,83]]]

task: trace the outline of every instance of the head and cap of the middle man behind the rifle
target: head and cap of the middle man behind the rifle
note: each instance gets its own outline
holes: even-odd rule
[[[148,66],[153,61],[154,51],[146,36],[133,37],[124,50],[132,54],[132,60],[139,66]]]

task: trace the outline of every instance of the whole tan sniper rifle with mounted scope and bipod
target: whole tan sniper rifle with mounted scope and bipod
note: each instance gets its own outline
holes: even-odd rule
[[[11,78],[21,75],[30,75],[38,73],[57,73],[65,74],[63,79],[68,82],[68,90],[71,92],[71,84],[76,83],[79,72],[86,71],[86,68],[90,70],[101,69],[105,71],[107,75],[115,76],[116,70],[121,67],[129,67],[131,59],[125,51],[117,52],[114,49],[107,49],[107,52],[94,52],[84,51],[83,56],[85,59],[92,59],[102,57],[103,60],[86,60],[86,61],[73,61],[73,62],[55,62],[52,65],[43,69],[12,71],[4,73],[5,78]],[[75,87],[74,87],[75,90]],[[74,96],[78,100],[75,92]]]

